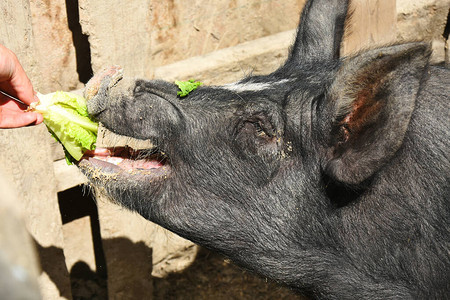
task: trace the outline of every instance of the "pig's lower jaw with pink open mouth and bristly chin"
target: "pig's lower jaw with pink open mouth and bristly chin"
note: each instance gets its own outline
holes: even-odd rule
[[[167,178],[170,174],[168,158],[155,150],[134,150],[129,147],[97,148],[85,153],[78,163],[91,180],[119,177],[133,179]]]

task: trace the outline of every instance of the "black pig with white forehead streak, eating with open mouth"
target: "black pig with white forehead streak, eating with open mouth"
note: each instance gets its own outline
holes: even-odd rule
[[[99,149],[79,167],[121,205],[303,294],[449,297],[450,71],[421,42],[340,58],[347,6],[308,1],[267,76],[185,98],[117,83],[115,67],[95,76],[90,114],[155,148]]]

